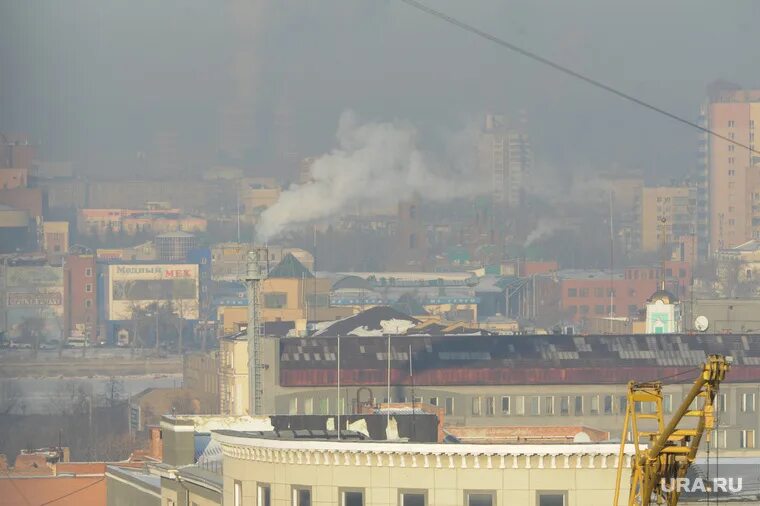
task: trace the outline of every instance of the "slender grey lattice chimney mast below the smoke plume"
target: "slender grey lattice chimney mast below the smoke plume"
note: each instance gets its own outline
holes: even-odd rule
[[[263,258],[262,258],[263,257]],[[264,322],[261,317],[261,282],[266,278],[262,262],[267,259],[266,249],[256,248],[248,253],[245,284],[248,289],[248,378],[252,415],[262,414],[261,339]]]

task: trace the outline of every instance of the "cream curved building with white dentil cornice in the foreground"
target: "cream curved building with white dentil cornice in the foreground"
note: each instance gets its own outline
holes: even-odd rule
[[[619,444],[440,444],[214,431],[225,506],[608,506]],[[329,437],[329,436],[328,436]],[[622,490],[633,446],[626,445]]]

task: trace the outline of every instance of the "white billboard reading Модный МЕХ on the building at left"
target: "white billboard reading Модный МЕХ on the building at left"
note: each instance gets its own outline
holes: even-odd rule
[[[198,265],[108,266],[108,319],[129,320],[135,310],[171,302],[186,320],[198,319]]]

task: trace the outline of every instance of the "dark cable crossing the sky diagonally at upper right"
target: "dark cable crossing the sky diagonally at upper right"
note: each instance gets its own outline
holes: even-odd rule
[[[760,151],[755,150],[751,148],[750,146],[743,144],[741,142],[737,142],[734,139],[731,139],[729,137],[726,137],[725,135],[721,135],[714,130],[710,130],[709,128],[705,128],[702,125],[695,123],[693,121],[689,121],[686,118],[682,118],[681,116],[678,116],[677,114],[674,114],[672,112],[666,111],[665,109],[662,109],[660,107],[657,107],[656,105],[652,105],[649,102],[645,102],[644,100],[640,98],[636,98],[633,95],[629,95],[628,93],[625,93],[623,91],[620,91],[616,88],[613,88],[612,86],[605,84],[601,81],[597,81],[596,79],[589,77],[587,75],[581,74],[580,72],[576,72],[575,70],[565,67],[564,65],[561,65],[559,63],[556,63],[552,60],[549,60],[548,58],[544,58],[543,56],[536,54],[532,51],[528,51],[527,49],[523,49],[515,44],[512,44],[511,42],[507,42],[504,39],[501,39],[495,35],[492,35],[488,32],[484,32],[483,30],[480,30],[479,28],[476,28],[470,24],[465,23],[464,21],[460,21],[454,17],[449,16],[448,14],[445,14],[441,11],[435,10],[431,7],[428,7],[427,5],[418,2],[417,0],[399,0],[402,3],[405,3],[409,5],[410,7],[414,7],[415,9],[422,11],[426,14],[430,14],[433,17],[436,17],[442,21],[445,21],[446,23],[449,23],[450,25],[456,26],[457,28],[460,28],[466,32],[470,32],[472,34],[477,35],[478,37],[481,37],[483,39],[489,40],[493,42],[494,44],[497,44],[501,47],[504,47],[506,49],[509,49],[510,51],[513,51],[515,53],[521,54],[522,56],[525,56],[526,58],[530,58],[531,60],[537,61],[543,65],[546,65],[547,67],[551,67],[554,70],[557,70],[559,72],[562,72],[563,74],[569,75],[571,77],[574,77],[576,79],[579,79],[587,84],[590,84],[591,86],[594,86],[596,88],[602,89],[608,93],[612,93],[613,95],[616,95],[624,100],[627,100],[629,102],[633,102],[636,105],[639,105],[641,107],[644,107],[646,109],[649,109],[651,111],[654,111],[658,114],[661,114],[663,116],[666,116],[672,120],[675,120],[679,123],[682,123],[684,125],[690,126],[692,128],[695,128],[701,132],[707,133],[709,135],[712,135],[713,137],[716,137],[718,139],[722,139],[726,142],[729,142],[735,146],[739,146],[741,148],[746,149],[750,153],[757,153],[760,154]]]

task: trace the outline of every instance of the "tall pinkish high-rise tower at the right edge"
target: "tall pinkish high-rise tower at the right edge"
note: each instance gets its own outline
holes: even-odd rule
[[[755,200],[760,204],[760,156],[755,149],[755,125],[760,127],[760,90],[742,90],[736,86],[719,84],[709,91],[703,107],[703,125],[725,137],[707,135],[700,143],[702,163],[701,195],[698,200],[698,218],[704,230],[708,225],[709,250],[732,248],[753,237],[760,236],[760,209],[755,211]],[[706,188],[705,188],[706,183]],[[709,197],[705,213],[705,193]],[[758,199],[754,198],[758,193]],[[709,223],[704,220],[707,214]],[[702,232],[704,235],[704,231]]]

